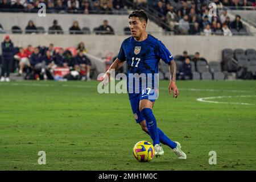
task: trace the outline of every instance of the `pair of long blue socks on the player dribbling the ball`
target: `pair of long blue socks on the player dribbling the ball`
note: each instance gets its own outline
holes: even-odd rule
[[[142,109],[141,113],[146,119],[147,130],[151,139],[153,140],[153,146],[155,146],[155,144],[160,144],[160,142],[171,148],[175,148],[177,146],[175,142],[172,142],[172,140],[156,126],[156,119],[150,108]]]

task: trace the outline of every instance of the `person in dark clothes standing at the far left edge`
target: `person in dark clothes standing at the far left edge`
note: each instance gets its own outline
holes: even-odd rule
[[[2,48],[2,72],[1,72],[1,81],[10,81],[10,72],[11,66],[13,65],[13,52],[14,52],[14,45],[11,42],[11,39],[8,35],[5,36],[5,40],[3,40],[1,44]],[[6,73],[6,75],[5,75]],[[5,78],[6,76],[6,78]]]

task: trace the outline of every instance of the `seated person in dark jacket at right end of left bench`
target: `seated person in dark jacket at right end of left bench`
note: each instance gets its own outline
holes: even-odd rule
[[[75,57],[75,71],[80,72],[82,80],[90,80],[90,60],[83,52],[79,52]]]

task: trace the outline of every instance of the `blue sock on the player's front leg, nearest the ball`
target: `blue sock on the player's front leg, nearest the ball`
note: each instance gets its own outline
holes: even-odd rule
[[[158,126],[156,126],[156,120],[150,108],[144,108],[141,110],[142,116],[146,119],[146,125],[148,133],[153,140],[153,146],[160,144],[158,135]]]

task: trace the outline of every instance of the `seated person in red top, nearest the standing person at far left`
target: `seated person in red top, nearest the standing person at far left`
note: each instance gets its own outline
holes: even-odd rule
[[[22,73],[23,73],[24,67],[30,67],[30,61],[28,59],[28,55],[24,51],[23,47],[19,48],[19,52],[16,53],[14,58],[19,61],[19,73],[18,73],[18,76],[21,76]]]

